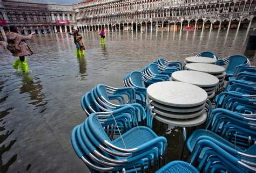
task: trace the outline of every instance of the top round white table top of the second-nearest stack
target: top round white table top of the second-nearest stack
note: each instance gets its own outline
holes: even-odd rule
[[[219,79],[211,74],[200,71],[182,70],[172,73],[172,80],[194,84],[200,87],[216,86]]]

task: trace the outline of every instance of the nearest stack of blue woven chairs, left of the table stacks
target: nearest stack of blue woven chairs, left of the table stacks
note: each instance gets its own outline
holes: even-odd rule
[[[91,172],[144,172],[164,162],[164,137],[148,127],[136,126],[111,141],[104,131],[106,121],[102,116],[92,113],[71,133],[73,149]],[[117,117],[112,121],[122,119]]]

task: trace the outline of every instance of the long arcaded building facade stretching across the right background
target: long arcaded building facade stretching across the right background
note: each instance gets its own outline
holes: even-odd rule
[[[73,9],[82,31],[203,31],[256,28],[255,6],[255,0],[85,0]]]

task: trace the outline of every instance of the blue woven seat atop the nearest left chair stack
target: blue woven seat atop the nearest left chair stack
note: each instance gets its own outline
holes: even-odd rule
[[[123,137],[125,146],[121,136],[119,136],[117,139],[112,141],[113,145],[119,148],[129,149],[129,148],[136,148],[142,145],[143,143],[146,143],[147,141],[157,138],[157,135],[150,128],[139,126],[139,127],[134,127],[130,131],[124,133],[122,137]]]

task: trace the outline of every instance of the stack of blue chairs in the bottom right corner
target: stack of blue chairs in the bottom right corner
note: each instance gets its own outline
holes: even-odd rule
[[[255,149],[253,145],[244,152],[202,135],[197,139],[190,162],[200,160],[197,169],[202,172],[255,172]]]

